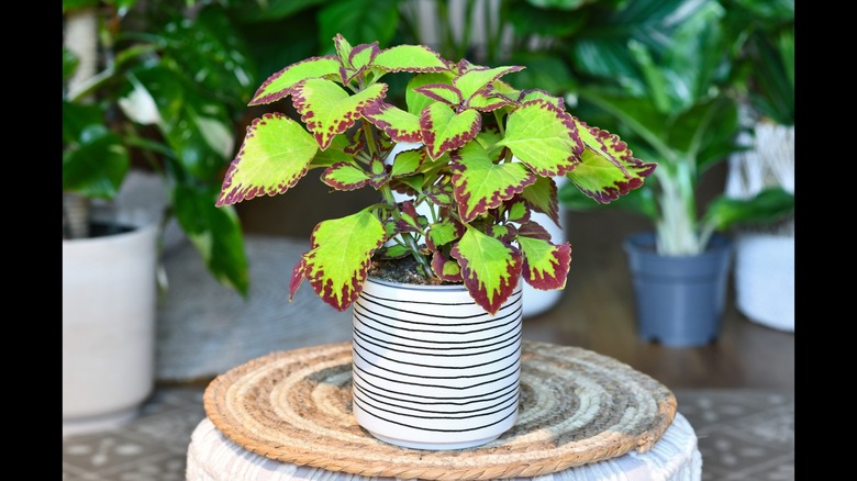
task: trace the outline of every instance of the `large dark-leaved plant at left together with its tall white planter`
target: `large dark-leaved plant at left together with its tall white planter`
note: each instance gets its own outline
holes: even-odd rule
[[[216,11],[191,19],[170,2],[134,4],[63,3],[64,434],[127,420],[154,388],[156,269],[170,219],[212,276],[248,286],[238,219],[212,204],[234,154],[232,107],[249,98],[253,69],[237,37],[219,40],[229,22]],[[166,197],[144,212],[111,209],[141,171],[156,172]]]

